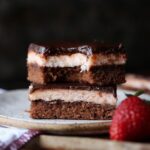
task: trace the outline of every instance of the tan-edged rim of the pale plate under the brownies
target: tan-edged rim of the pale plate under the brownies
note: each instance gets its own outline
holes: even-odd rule
[[[1,93],[2,95],[9,95],[11,93],[15,94],[15,92],[27,92],[28,89],[15,89],[5,91]],[[0,95],[1,95],[0,94]],[[37,119],[36,119],[37,120]],[[41,120],[41,119],[38,119]],[[54,119],[53,119],[54,120]],[[63,119],[60,119],[63,120]],[[26,128],[26,129],[33,129],[33,130],[40,130],[40,131],[54,131],[54,132],[76,132],[76,131],[102,131],[108,130],[111,120],[86,120],[89,121],[88,123],[66,123],[66,124],[58,124],[50,122],[34,122],[32,120],[25,120],[21,118],[13,118],[5,115],[0,114],[0,124],[5,126],[12,126],[12,127],[19,127],[19,128]],[[91,121],[91,122],[90,122]]]

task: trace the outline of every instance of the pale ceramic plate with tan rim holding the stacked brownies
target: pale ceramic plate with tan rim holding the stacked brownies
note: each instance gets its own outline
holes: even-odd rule
[[[125,92],[118,90],[118,103],[125,98]],[[144,94],[145,99],[150,99]],[[107,132],[111,120],[60,120],[31,119],[28,113],[30,101],[27,90],[14,90],[0,94],[0,124],[19,128],[43,130],[54,133],[88,134]]]

